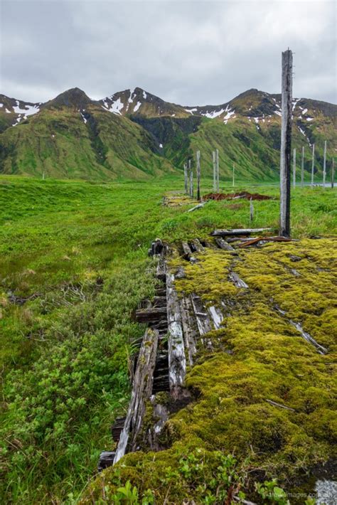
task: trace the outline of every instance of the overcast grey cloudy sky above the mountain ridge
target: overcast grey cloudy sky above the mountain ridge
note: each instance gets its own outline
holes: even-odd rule
[[[0,0],[0,93],[45,102],[80,87],[98,100],[139,86],[180,105],[251,87],[336,103],[336,1]]]

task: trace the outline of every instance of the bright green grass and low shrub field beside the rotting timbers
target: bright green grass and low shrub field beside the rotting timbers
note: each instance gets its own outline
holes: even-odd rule
[[[223,184],[226,192],[229,184]],[[162,205],[183,181],[94,184],[0,177],[2,502],[73,501],[111,447],[109,427],[127,405],[132,313],[151,297],[147,250],[249,224],[249,202]],[[203,193],[211,181],[203,181]],[[277,228],[277,186],[237,189],[255,201],[255,225]],[[336,235],[336,191],[296,188],[295,238]],[[16,302],[16,303],[14,303]]]

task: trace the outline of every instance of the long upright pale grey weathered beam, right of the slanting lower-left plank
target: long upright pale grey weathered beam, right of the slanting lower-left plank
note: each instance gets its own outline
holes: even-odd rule
[[[169,383],[173,397],[181,392],[186,376],[185,346],[178,295],[174,289],[174,275],[166,275],[167,323],[169,328]]]

